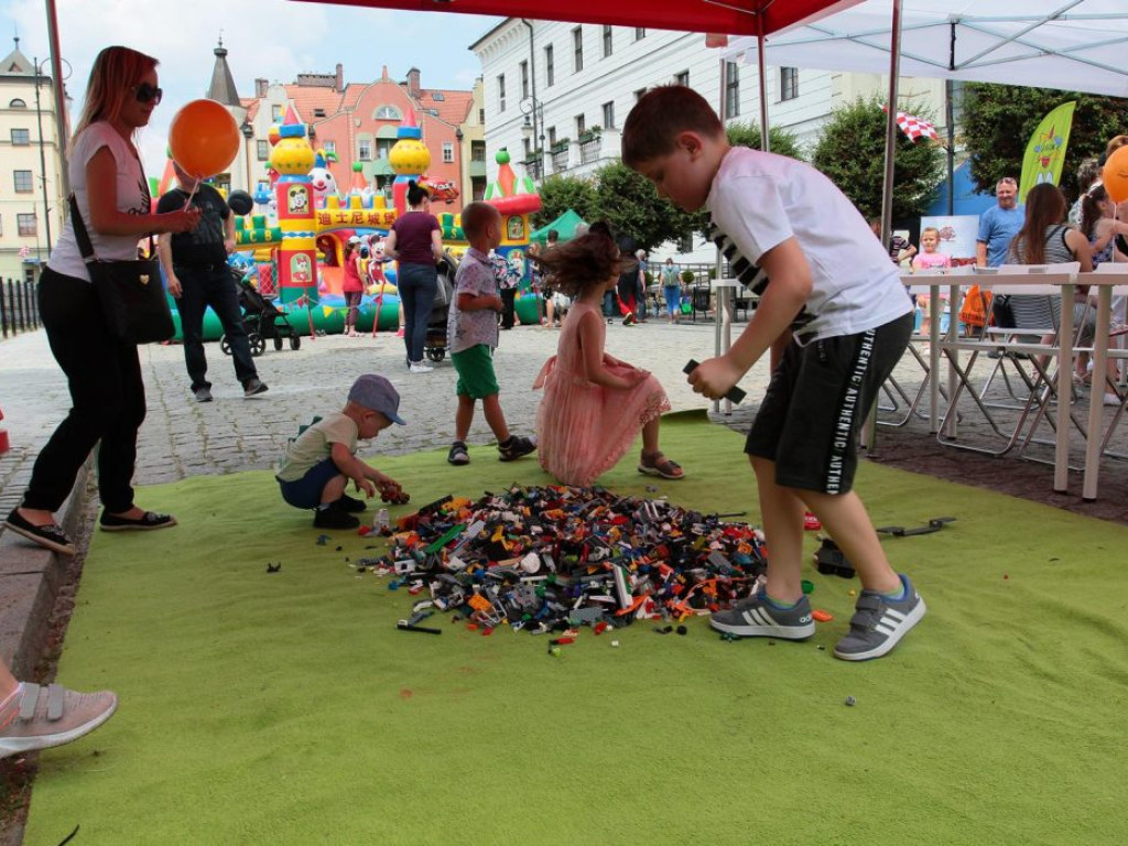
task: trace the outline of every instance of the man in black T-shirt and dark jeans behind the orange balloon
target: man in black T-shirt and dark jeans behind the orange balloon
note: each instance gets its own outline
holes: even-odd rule
[[[174,169],[180,186],[161,196],[157,211],[183,209],[190,197],[192,205],[201,211],[195,229],[176,235],[166,232],[158,244],[168,291],[179,301],[184,363],[192,379],[192,394],[197,403],[212,399],[203,344],[204,309],[211,306],[231,346],[243,396],[253,397],[265,391],[266,385],[258,378],[250,356],[239,298],[227,265],[227,256],[235,249],[235,215],[215,188],[190,176],[175,162]]]

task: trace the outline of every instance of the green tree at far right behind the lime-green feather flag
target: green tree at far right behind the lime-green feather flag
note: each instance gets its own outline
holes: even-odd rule
[[[1113,135],[1125,131],[1128,99],[1052,88],[969,82],[961,98],[963,147],[971,160],[971,178],[980,191],[992,191],[1004,176],[1019,179],[1026,144],[1039,122],[1054,108],[1077,102],[1069,147],[1061,170],[1061,187],[1077,196],[1077,167],[1104,152]]]

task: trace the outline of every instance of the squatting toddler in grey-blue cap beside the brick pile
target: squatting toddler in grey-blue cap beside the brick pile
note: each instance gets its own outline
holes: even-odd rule
[[[365,496],[379,491],[388,502],[407,502],[399,483],[356,458],[358,440],[376,438],[393,423],[405,425],[398,412],[399,394],[391,382],[376,373],[358,378],[344,408],[316,420],[287,444],[275,475],[282,499],[314,509],[318,529],[360,526],[355,514],[364,502],[345,493],[350,479]]]

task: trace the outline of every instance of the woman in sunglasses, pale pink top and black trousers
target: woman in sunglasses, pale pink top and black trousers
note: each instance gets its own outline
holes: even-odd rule
[[[94,254],[135,259],[138,240],[187,232],[197,209],[153,214],[149,184],[134,147],[136,131],[160,103],[157,60],[106,47],[94,62],[70,153],[70,182]],[[68,219],[38,287],[39,314],[55,361],[67,373],[73,407],[35,462],[23,503],[5,526],[55,552],[74,553],[54,512],[99,441],[98,490],[106,530],[175,526],[168,514],[133,503],[136,437],[144,420],[144,384],[136,346],[112,336]]]

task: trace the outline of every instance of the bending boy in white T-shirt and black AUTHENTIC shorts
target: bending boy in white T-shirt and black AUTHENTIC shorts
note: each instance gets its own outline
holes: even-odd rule
[[[769,349],[781,354],[744,447],[772,549],[767,588],[714,614],[711,625],[744,637],[814,634],[801,584],[805,503],[862,580],[835,655],[884,655],[925,613],[851,490],[858,430],[913,332],[897,267],[826,176],[730,147],[716,113],[689,88],[654,88],[635,104],[623,161],[686,211],[706,208],[733,275],[760,297],[729,352],[689,374],[694,390],[722,397]]]

